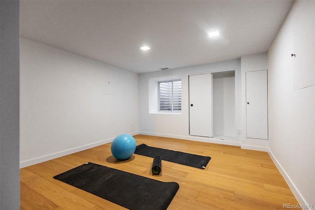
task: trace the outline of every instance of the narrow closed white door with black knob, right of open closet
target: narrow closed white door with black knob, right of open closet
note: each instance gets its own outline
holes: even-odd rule
[[[246,137],[268,139],[267,70],[246,72]]]

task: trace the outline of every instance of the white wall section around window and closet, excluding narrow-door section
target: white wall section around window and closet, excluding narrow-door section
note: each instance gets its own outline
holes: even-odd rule
[[[239,137],[235,141],[214,140],[202,137],[189,136],[189,98],[188,76],[190,74],[215,72],[221,70],[235,70],[235,125],[240,127],[241,119],[241,63],[240,60],[231,60],[220,63],[199,65],[193,67],[178,68],[173,70],[142,73],[139,75],[139,133],[153,136],[172,137],[187,140],[200,140],[223,144],[240,145]],[[150,111],[149,101],[152,95],[157,95],[152,83],[157,78],[181,78],[182,79],[182,112],[181,114],[165,114]],[[150,87],[149,88],[149,84]],[[152,92],[150,92],[152,91]],[[151,100],[151,103],[156,103]],[[236,131],[234,131],[236,133]]]

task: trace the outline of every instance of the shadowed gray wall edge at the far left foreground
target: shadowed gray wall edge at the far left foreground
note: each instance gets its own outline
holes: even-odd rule
[[[20,209],[18,0],[0,0],[0,209]]]

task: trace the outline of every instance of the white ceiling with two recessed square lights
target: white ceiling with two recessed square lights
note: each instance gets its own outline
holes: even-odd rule
[[[22,0],[22,37],[134,72],[267,52],[292,0]],[[219,30],[211,39],[207,33]],[[151,47],[148,51],[139,48]]]

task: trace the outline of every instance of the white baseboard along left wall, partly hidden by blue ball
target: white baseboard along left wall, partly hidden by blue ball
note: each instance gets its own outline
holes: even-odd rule
[[[134,136],[134,135],[137,135],[137,134],[139,134],[139,132],[130,133],[129,135]],[[95,146],[99,146],[99,145],[102,145],[102,144],[105,144],[105,143],[109,143],[109,142],[112,142],[114,139],[115,138],[110,138],[110,139],[107,139],[107,140],[101,140],[101,141],[97,141],[97,142],[94,142],[94,143],[86,144],[86,145],[83,145],[83,146],[78,146],[78,147],[75,147],[75,148],[72,148],[72,149],[67,149],[67,150],[64,150],[64,151],[56,152],[56,153],[53,153],[53,154],[49,154],[49,155],[33,158],[33,159],[30,159],[30,160],[26,160],[26,161],[21,161],[20,162],[20,169],[28,167],[28,166],[32,166],[32,165],[37,164],[37,163],[42,163],[44,161],[48,161],[48,160],[52,160],[52,159],[55,159],[55,158],[59,158],[59,157],[62,157],[64,155],[72,154],[72,153],[79,152],[79,151],[82,151],[82,150],[85,150],[85,149],[90,149],[90,148],[93,148]]]

